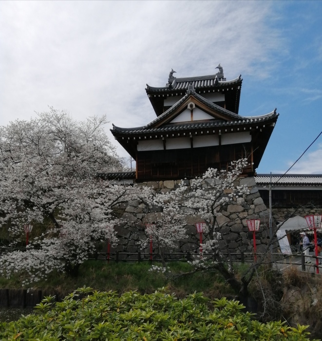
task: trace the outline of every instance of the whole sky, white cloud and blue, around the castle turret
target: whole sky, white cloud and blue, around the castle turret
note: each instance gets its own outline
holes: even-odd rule
[[[146,83],[221,63],[239,114],[280,113],[257,172],[284,172],[322,131],[321,18],[322,1],[0,1],[0,125],[54,106],[141,126]],[[322,173],[322,136],[290,173]]]

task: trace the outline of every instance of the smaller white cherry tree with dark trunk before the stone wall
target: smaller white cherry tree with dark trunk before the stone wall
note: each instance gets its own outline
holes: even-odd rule
[[[179,188],[166,193],[162,198],[178,212],[198,216],[206,223],[208,238],[201,245],[199,254],[190,262],[194,266],[192,272],[216,269],[237,293],[243,294],[247,292],[251,277],[246,276],[242,280],[236,278],[229,253],[227,257],[219,247],[221,234],[216,230],[220,227],[217,218],[222,215],[222,207],[249,194],[247,185],[238,185],[237,181],[247,164],[247,159],[241,159],[231,162],[228,170],[209,168],[200,177],[182,181]],[[213,257],[207,257],[207,253],[213,254]]]

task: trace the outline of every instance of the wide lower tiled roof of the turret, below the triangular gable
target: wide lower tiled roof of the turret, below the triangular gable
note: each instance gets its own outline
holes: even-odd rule
[[[229,127],[229,126],[238,126],[245,124],[253,124],[253,123],[262,123],[272,118],[278,117],[279,114],[274,110],[273,112],[263,115],[263,116],[255,116],[255,117],[241,117],[241,119],[235,119],[231,121],[224,120],[209,120],[203,122],[194,122],[194,123],[183,123],[183,124],[166,124],[162,127],[157,128],[146,128],[144,127],[136,127],[136,128],[120,128],[113,125],[112,132],[117,131],[118,133],[126,133],[126,134],[138,134],[138,133],[163,133],[163,132],[175,132],[175,131],[187,131],[192,129],[207,129],[207,128],[218,128],[218,127]]]

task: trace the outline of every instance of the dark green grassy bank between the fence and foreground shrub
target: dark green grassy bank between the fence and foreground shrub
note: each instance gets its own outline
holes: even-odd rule
[[[155,265],[158,265],[154,263]],[[169,265],[172,274],[189,272],[192,266],[183,262],[171,262]],[[70,277],[62,272],[53,271],[47,281],[33,284],[33,289],[44,291],[59,291],[69,293],[78,287],[90,286],[95,290],[115,290],[123,293],[129,290],[138,290],[141,293],[152,293],[156,289],[168,286],[178,296],[187,293],[202,291],[208,297],[233,295],[230,287],[215,271],[198,272],[180,277],[176,280],[167,278],[163,273],[149,271],[148,262],[107,263],[104,261],[86,261],[79,268],[77,277]],[[21,289],[23,274],[14,275],[10,279],[0,278],[0,288]]]

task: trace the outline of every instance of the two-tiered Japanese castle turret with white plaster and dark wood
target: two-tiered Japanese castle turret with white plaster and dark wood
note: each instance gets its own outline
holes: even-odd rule
[[[166,86],[145,89],[155,119],[143,127],[113,125],[115,139],[136,161],[136,182],[189,179],[243,157],[245,175],[254,175],[279,114],[240,115],[243,79],[227,81],[217,68],[214,75],[185,78],[171,70]]]

